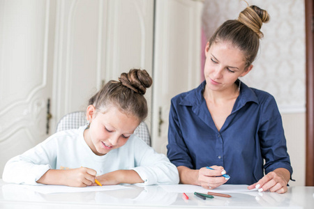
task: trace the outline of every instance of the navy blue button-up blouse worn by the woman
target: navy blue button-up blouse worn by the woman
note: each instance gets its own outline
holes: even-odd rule
[[[281,114],[272,95],[241,83],[239,97],[217,130],[197,88],[171,100],[167,157],[190,169],[224,167],[227,184],[256,183],[265,173],[285,168],[292,175]]]

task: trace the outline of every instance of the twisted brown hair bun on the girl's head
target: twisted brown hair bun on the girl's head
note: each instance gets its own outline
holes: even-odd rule
[[[153,84],[153,79],[149,76],[149,73],[146,70],[140,69],[132,69],[128,73],[122,73],[119,81],[122,85],[141,95],[144,95],[146,88],[149,88]]]

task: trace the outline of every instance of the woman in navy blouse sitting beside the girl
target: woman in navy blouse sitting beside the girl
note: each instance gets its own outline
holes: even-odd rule
[[[287,192],[292,167],[276,101],[239,80],[253,68],[268,21],[266,10],[249,6],[224,22],[205,48],[205,81],[172,98],[167,157],[181,183]]]

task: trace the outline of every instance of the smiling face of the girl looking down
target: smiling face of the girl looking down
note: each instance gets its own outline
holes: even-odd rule
[[[110,107],[105,114],[95,111],[93,105],[87,107],[89,129],[84,131],[84,139],[96,155],[105,155],[110,150],[126,144],[140,121],[135,116],[129,116]]]

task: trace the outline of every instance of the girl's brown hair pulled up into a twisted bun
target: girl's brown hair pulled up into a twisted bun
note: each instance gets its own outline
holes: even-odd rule
[[[146,70],[132,69],[124,72],[119,81],[111,80],[89,99],[96,111],[105,112],[107,107],[117,107],[124,114],[136,116],[140,121],[147,117],[146,89],[153,84],[153,79]]]

